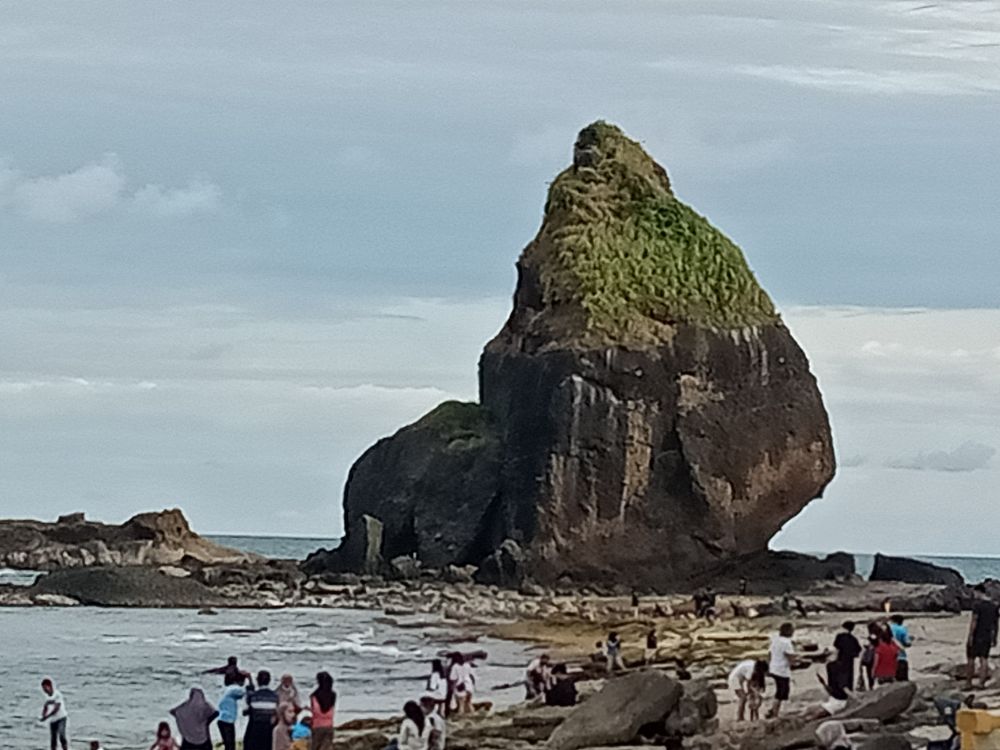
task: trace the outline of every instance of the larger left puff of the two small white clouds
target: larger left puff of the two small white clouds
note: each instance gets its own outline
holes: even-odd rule
[[[24,178],[8,174],[8,190],[17,211],[29,219],[66,224],[113,208],[125,187],[118,159],[101,161],[71,172]]]

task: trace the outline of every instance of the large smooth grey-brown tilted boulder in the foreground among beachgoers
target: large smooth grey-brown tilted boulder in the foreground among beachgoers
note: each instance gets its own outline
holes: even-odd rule
[[[545,747],[577,750],[627,744],[643,726],[662,722],[676,708],[681,693],[679,682],[652,670],[610,680],[569,713]]]

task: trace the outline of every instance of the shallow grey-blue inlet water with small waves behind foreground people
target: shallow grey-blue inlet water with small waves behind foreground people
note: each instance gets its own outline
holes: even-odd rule
[[[398,623],[398,624],[397,624]],[[251,632],[256,631],[256,632]],[[156,725],[169,720],[189,688],[213,702],[221,678],[203,675],[229,656],[273,680],[292,674],[307,694],[316,672],[336,678],[338,723],[364,716],[400,715],[419,698],[428,663],[442,650],[482,649],[479,699],[498,706],[523,698],[494,689],[524,674],[527,646],[492,638],[471,640],[430,618],[381,617],[335,609],[193,610],[0,608],[0,748],[44,750],[48,734],[37,721],[51,677],[69,710],[72,747],[99,739],[108,750],[146,750]]]

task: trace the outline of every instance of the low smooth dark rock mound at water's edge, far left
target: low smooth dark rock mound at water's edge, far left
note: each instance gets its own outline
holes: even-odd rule
[[[94,607],[212,607],[223,603],[221,596],[198,581],[148,567],[58,570],[40,578],[28,593],[68,596]]]

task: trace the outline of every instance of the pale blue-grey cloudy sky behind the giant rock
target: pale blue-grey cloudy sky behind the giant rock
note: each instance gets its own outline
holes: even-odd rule
[[[0,516],[336,536],[476,395],[576,132],[745,250],[840,462],[774,541],[1000,554],[1000,3],[16,3]]]

